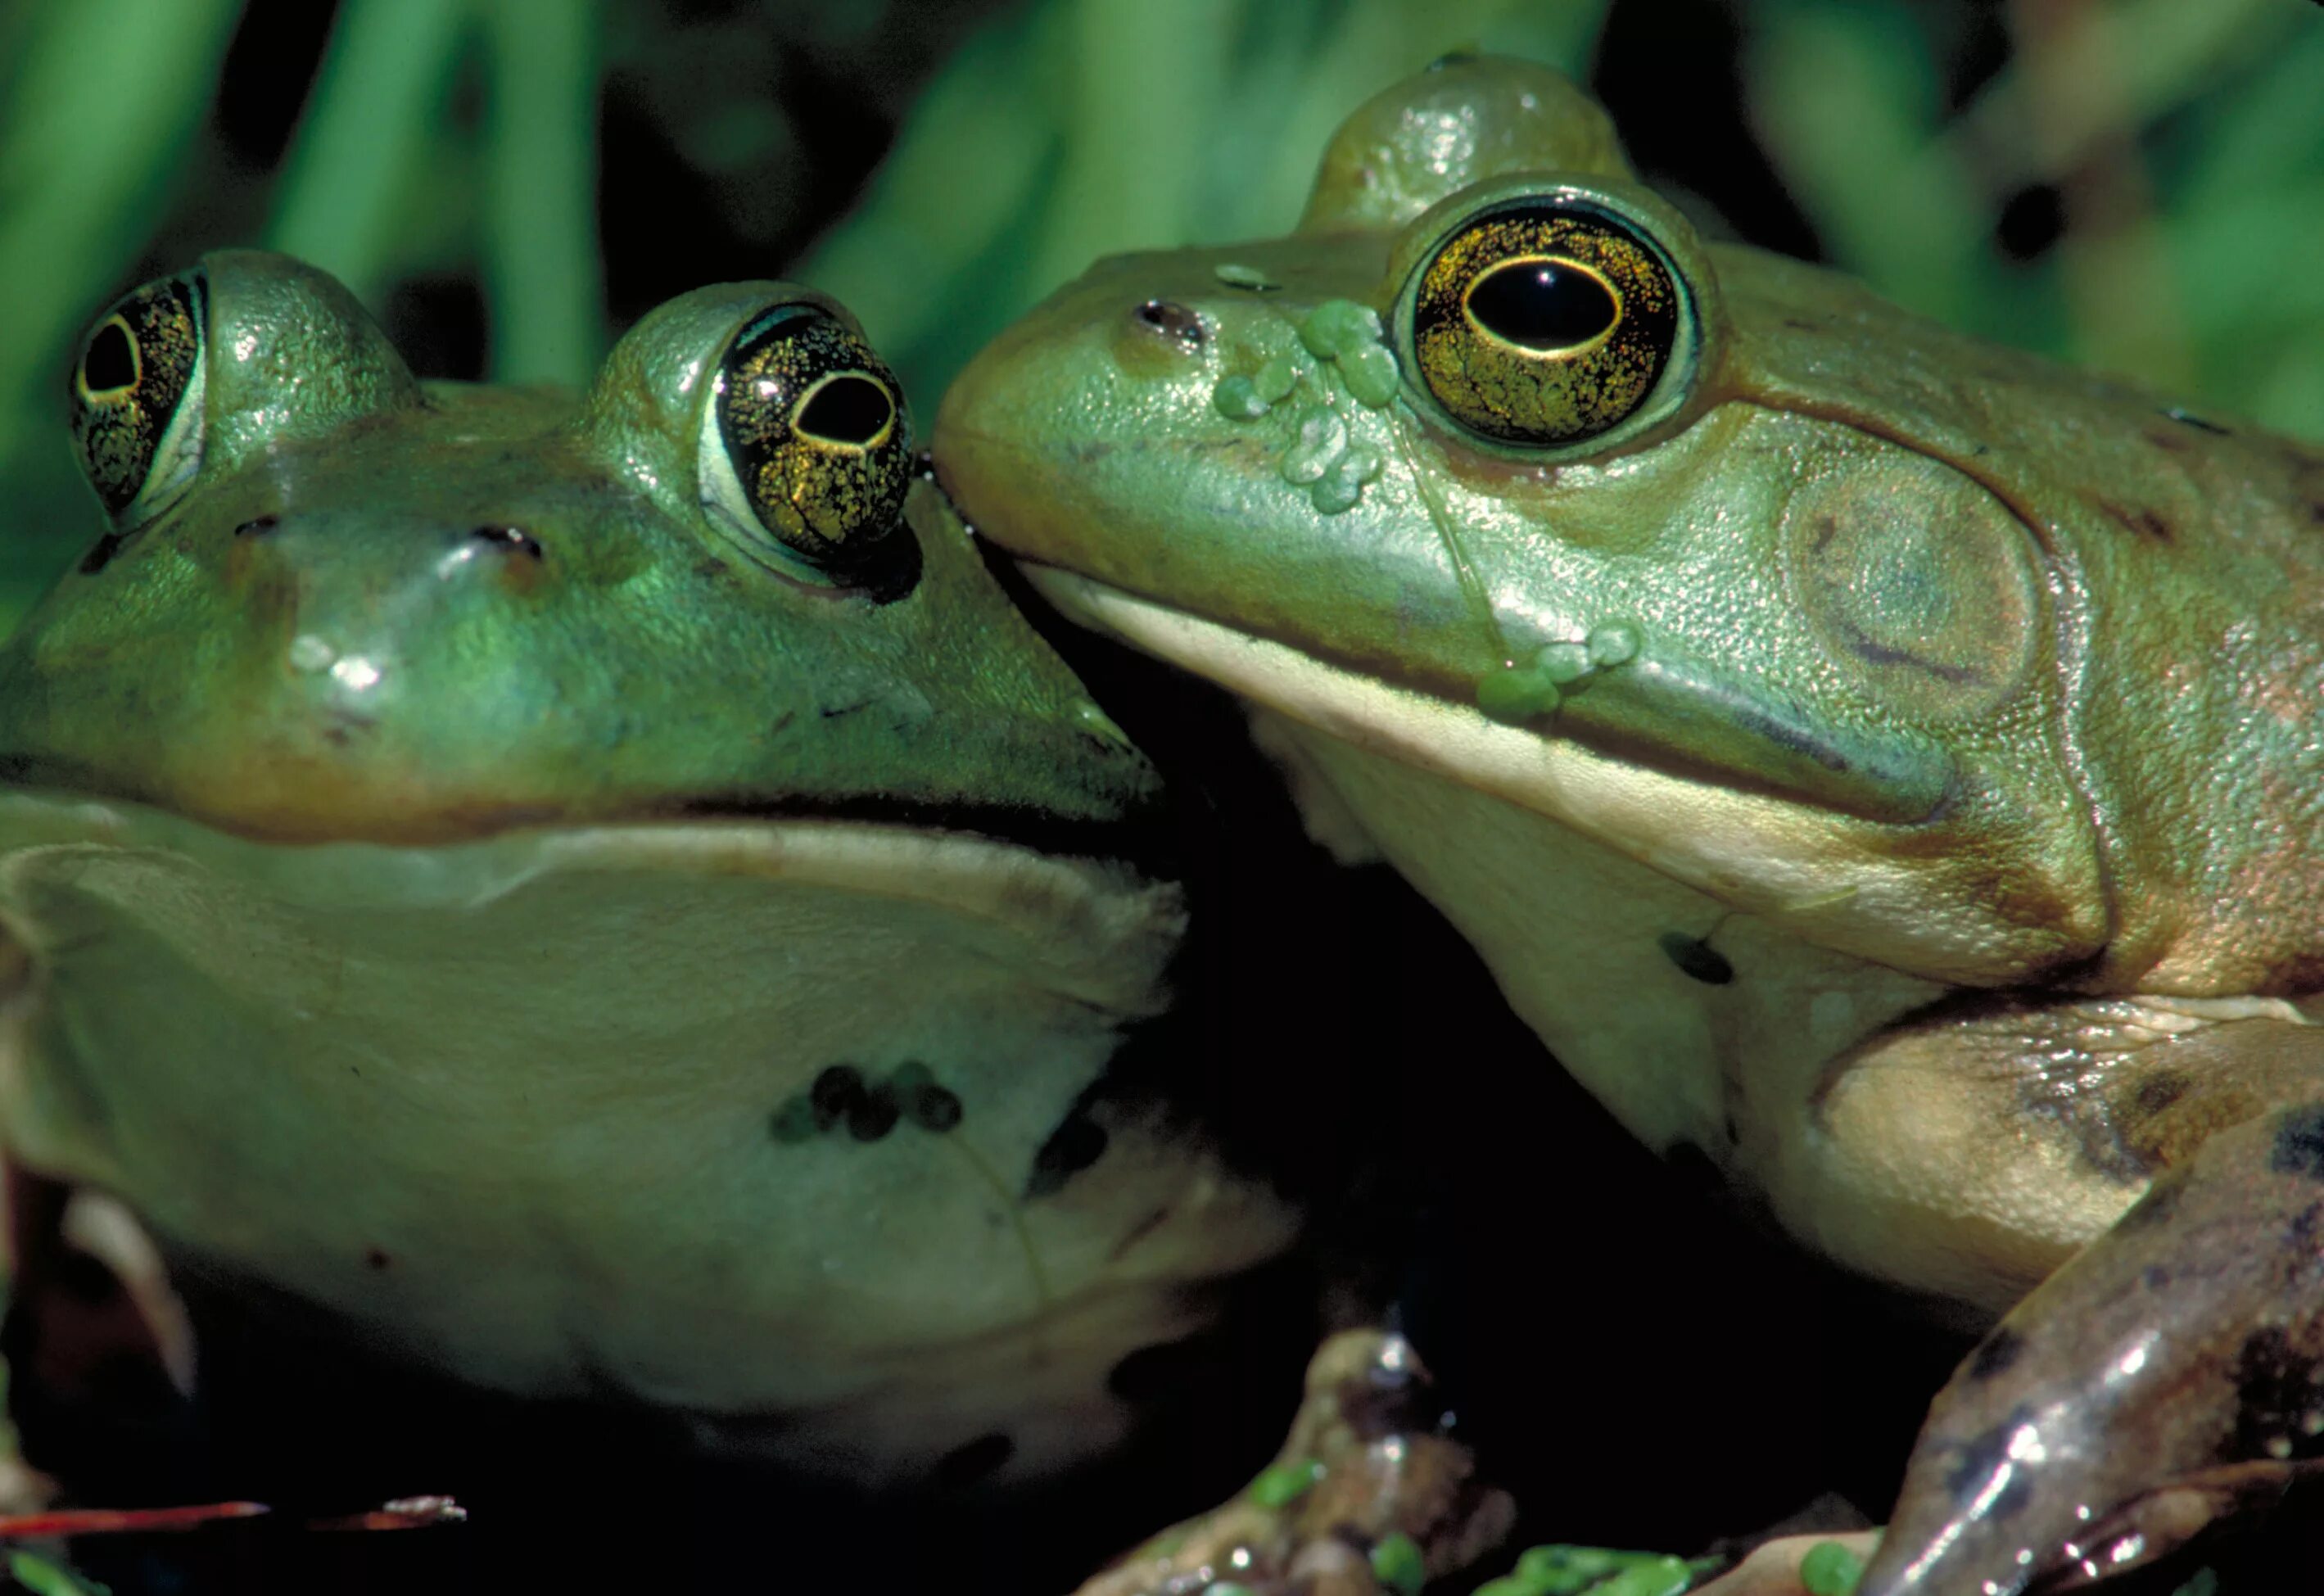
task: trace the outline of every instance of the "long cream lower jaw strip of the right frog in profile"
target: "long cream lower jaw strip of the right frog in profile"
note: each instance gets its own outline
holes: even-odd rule
[[[1629,764],[1057,567],[1023,567],[1081,625],[1355,748],[1548,815],[1806,941],[1968,985],[2087,952],[2078,927],[2027,927],[1948,899],[1908,850],[1889,850],[1896,827]]]

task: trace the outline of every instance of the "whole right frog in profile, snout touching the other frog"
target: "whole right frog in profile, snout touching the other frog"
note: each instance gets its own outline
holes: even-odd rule
[[[1290,237],[1060,290],[934,455],[1631,1131],[1992,1327],[1864,1596],[2324,1457],[2324,453],[1706,242],[1469,58]]]

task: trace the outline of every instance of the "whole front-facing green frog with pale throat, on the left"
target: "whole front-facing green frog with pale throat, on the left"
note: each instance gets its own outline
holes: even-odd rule
[[[460,1380],[862,1482],[1102,1452],[1109,1373],[1290,1241],[1122,1085],[1157,776],[830,297],[502,390],[214,253],[86,335],[72,432],[105,530],[0,650],[21,1166]]]

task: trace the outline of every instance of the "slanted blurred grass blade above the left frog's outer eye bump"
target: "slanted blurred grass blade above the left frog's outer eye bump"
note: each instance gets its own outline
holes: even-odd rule
[[[376,304],[395,207],[437,135],[467,0],[346,0],[290,149],[267,244]]]

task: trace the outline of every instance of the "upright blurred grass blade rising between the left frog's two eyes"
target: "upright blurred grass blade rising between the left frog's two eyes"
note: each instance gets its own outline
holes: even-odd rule
[[[586,383],[604,344],[597,276],[593,0],[479,0],[490,60],[483,279],[493,379]]]

